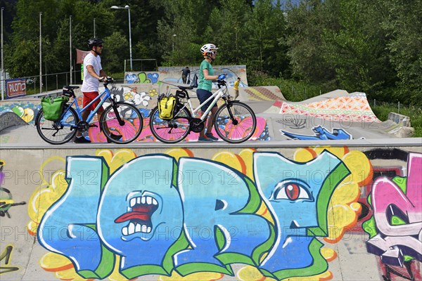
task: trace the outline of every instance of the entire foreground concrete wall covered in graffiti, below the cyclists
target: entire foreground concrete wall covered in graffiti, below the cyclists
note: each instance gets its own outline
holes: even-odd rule
[[[0,160],[1,280],[421,280],[421,147]]]

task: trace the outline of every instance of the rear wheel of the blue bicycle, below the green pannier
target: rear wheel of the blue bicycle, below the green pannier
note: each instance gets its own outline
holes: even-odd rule
[[[65,111],[58,121],[50,121],[44,118],[44,113],[39,110],[35,117],[35,126],[39,136],[52,145],[61,145],[67,143],[75,137],[77,132],[76,124],[79,117],[72,107],[65,107]]]

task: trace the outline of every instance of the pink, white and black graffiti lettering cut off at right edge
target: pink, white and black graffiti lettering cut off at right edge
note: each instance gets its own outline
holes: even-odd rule
[[[368,198],[373,217],[362,225],[370,235],[369,253],[380,256],[388,271],[407,268],[410,277],[410,261],[422,261],[421,183],[422,155],[409,153],[407,177],[381,176],[373,182]]]

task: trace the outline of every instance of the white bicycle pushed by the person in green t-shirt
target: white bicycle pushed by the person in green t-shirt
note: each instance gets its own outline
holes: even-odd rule
[[[163,143],[178,143],[184,140],[191,131],[199,133],[204,129],[208,113],[217,101],[222,98],[224,104],[215,113],[214,127],[217,135],[228,143],[243,143],[255,132],[257,118],[253,110],[238,100],[231,100],[224,79],[218,80],[218,90],[197,108],[192,107],[188,91],[192,86],[177,86],[177,103],[172,119],[161,119],[158,106],[151,110],[150,129],[155,138]],[[213,100],[212,100],[213,99]],[[208,101],[212,103],[201,117],[200,108]]]

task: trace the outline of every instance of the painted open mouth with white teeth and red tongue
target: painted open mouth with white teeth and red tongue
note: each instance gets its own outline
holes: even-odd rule
[[[153,195],[151,192],[144,192],[143,195],[139,195],[139,193],[136,192],[132,196],[128,195],[129,207],[127,207],[127,212],[115,219],[115,223],[129,222],[122,228],[122,239],[124,240],[136,234],[143,238],[153,231],[151,216],[158,210],[160,204],[155,197],[151,196]]]

